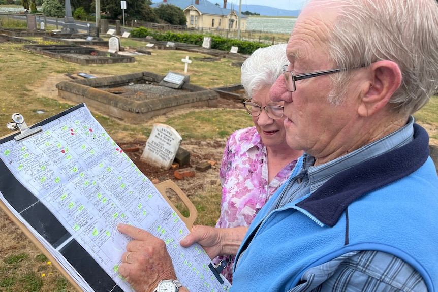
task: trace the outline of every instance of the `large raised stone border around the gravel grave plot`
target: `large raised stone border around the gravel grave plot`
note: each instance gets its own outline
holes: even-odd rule
[[[56,84],[58,96],[76,103],[85,103],[96,111],[113,118],[141,124],[148,119],[181,108],[217,107],[217,92],[184,83],[181,93],[146,101],[135,101],[99,87],[126,86],[129,83],[152,82],[158,85],[165,76],[152,72],[138,72],[125,75],[98,77]]]

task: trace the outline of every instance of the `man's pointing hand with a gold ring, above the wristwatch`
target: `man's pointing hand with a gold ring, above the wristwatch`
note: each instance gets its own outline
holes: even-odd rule
[[[118,271],[136,292],[152,292],[160,280],[176,279],[163,240],[128,224],[118,224],[117,229],[132,237],[126,246],[127,252],[121,256]]]

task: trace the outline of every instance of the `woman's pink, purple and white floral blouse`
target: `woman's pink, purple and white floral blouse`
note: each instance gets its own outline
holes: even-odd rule
[[[286,165],[268,184],[266,146],[256,127],[235,131],[225,146],[219,177],[222,184],[221,216],[216,227],[249,226],[259,210],[292,172],[297,160]],[[222,274],[232,282],[234,256],[219,256],[227,267]]]

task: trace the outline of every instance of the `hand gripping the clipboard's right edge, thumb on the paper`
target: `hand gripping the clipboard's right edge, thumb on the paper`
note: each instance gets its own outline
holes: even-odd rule
[[[197,242],[211,259],[218,255],[236,255],[247,230],[247,227],[215,228],[195,225],[192,232],[181,239],[179,244],[189,247]]]

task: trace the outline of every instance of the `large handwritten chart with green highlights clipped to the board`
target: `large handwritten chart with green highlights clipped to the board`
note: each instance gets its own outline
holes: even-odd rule
[[[130,238],[118,223],[163,239],[191,291],[227,291],[199,245],[182,248],[184,222],[85,104],[41,123],[42,133],[0,140],[0,199],[84,291],[132,292],[118,274]]]

